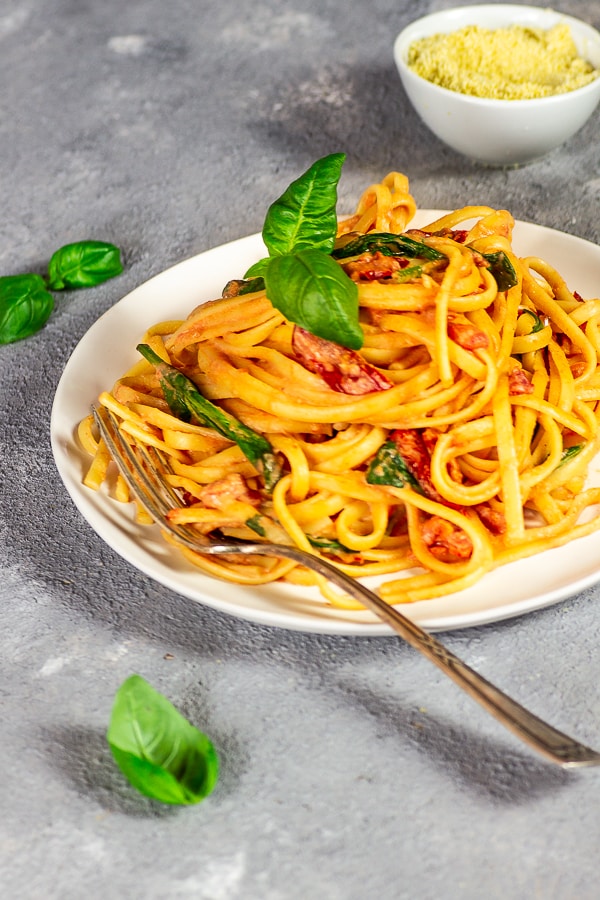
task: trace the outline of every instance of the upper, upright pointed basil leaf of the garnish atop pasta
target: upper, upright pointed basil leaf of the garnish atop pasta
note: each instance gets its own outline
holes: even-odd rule
[[[337,185],[345,153],[318,159],[271,204],[262,236],[269,256],[311,248],[333,250],[337,233]],[[264,271],[253,271],[264,275]]]

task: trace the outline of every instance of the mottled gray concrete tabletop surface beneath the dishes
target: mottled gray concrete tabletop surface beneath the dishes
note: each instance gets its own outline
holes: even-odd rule
[[[257,231],[324,153],[348,153],[342,203],[398,168],[421,206],[478,196],[600,240],[598,113],[501,171],[446,150],[408,107],[394,35],[448,5],[0,0],[0,270],[40,270],[86,237],[126,262],[0,347],[0,896],[598,896],[600,771],[541,761],[394,638],[252,625],[148,582],[80,517],[50,451],[56,384],[98,316]],[[600,26],[597,3],[554,5]],[[599,604],[590,588],[445,640],[600,746]],[[213,737],[222,774],[200,806],[158,806],[115,769],[104,732],[132,672]]]

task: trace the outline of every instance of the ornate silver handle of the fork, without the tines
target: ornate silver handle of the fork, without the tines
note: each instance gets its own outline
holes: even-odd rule
[[[214,547],[211,548],[211,553],[214,552],[214,549]],[[346,575],[332,563],[298,548],[283,545],[252,544],[244,546],[244,544],[236,544],[235,548],[229,545],[227,549],[229,552],[235,549],[236,553],[258,552],[263,555],[284,556],[309,566],[375,613],[407,643],[435,663],[442,672],[455,681],[506,728],[547,759],[558,763],[563,768],[600,764],[600,753],[558,731],[525,709],[516,700],[479,675],[435,637],[399,612],[396,607],[390,606],[373,591]],[[223,552],[227,552],[225,547]]]

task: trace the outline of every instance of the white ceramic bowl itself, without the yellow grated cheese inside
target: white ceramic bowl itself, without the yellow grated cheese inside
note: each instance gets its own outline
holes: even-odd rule
[[[547,30],[567,24],[580,56],[600,69],[600,34],[579,19],[551,9],[516,4],[464,6],[432,13],[408,25],[396,38],[394,59],[411,103],[440,140],[478,162],[495,166],[527,163],[570,138],[600,100],[600,78],[584,87],[537,100],[487,100],[439,87],[407,65],[408,48],[422,37],[466,25],[509,25]]]

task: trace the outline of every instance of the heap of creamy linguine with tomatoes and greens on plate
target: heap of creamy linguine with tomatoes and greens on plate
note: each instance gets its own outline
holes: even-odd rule
[[[124,434],[167,455],[173,521],[293,543],[377,576],[391,604],[600,527],[600,488],[585,487],[600,299],[572,292],[551,261],[518,257],[506,210],[465,206],[411,229],[415,212],[407,178],[390,173],[336,220],[327,252],[301,248],[293,264],[273,253],[185,320],[151,325],[139,361],[100,396]],[[330,306],[313,291],[321,257],[319,283],[340,273]],[[341,295],[349,309],[356,299],[348,326]],[[129,502],[92,416],[79,437],[85,484]],[[317,584],[358,606],[289,560],[179,549],[214,577]]]

